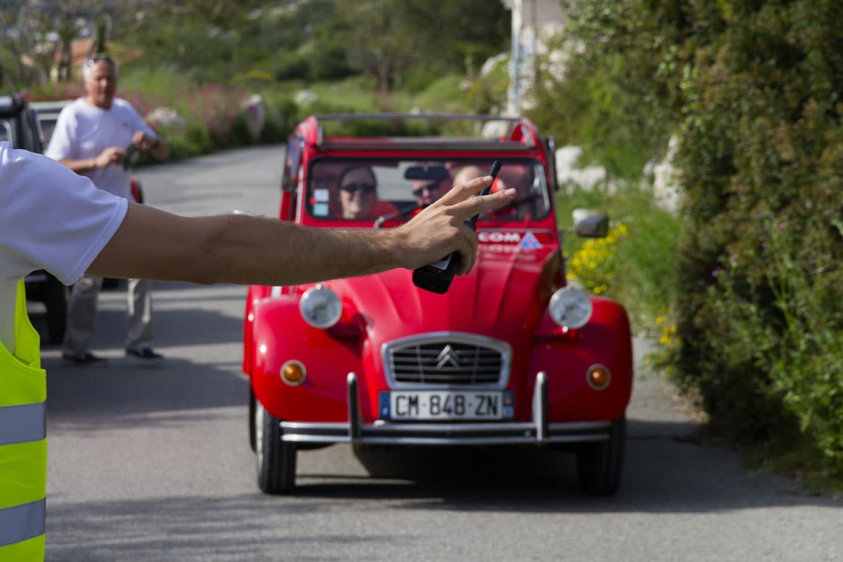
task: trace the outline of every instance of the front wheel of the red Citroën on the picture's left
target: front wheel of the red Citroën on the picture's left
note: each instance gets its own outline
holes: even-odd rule
[[[255,399],[258,487],[265,494],[289,494],[296,485],[296,446],[281,435],[281,420]]]

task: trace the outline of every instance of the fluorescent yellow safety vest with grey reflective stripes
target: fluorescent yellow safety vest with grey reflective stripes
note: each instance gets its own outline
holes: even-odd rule
[[[46,373],[38,332],[26,316],[24,281],[15,306],[15,355],[0,344],[0,560],[44,560]]]

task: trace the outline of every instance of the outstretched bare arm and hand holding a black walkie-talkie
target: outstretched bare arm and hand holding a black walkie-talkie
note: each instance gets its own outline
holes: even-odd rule
[[[515,190],[474,197],[490,177],[456,185],[410,222],[384,230],[302,227],[245,215],[179,217],[129,204],[121,227],[89,267],[100,276],[196,283],[292,285],[415,269],[459,251],[475,263],[477,236],[464,221],[506,204]]]

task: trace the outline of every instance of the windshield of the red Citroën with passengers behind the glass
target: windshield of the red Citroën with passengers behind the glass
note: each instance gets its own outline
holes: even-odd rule
[[[492,190],[514,187],[518,197],[481,220],[545,217],[550,199],[541,163],[500,159],[503,165]],[[407,220],[455,183],[488,174],[493,160],[319,158],[308,169],[306,211],[311,217],[331,221]]]

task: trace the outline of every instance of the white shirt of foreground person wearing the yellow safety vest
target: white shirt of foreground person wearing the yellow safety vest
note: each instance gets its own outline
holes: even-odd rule
[[[0,343],[9,351],[18,281],[45,269],[66,285],[76,282],[127,208],[62,164],[0,142]]]

